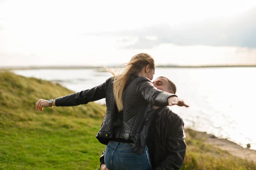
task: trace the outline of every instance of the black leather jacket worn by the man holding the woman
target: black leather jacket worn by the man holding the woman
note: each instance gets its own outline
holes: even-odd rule
[[[156,112],[154,121],[154,146],[150,155],[153,170],[179,170],[183,164],[186,153],[184,122],[168,107]],[[104,154],[100,157],[104,163]]]

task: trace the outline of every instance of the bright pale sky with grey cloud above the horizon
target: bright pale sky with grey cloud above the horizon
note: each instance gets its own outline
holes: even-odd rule
[[[0,66],[256,64],[255,0],[0,0]]]

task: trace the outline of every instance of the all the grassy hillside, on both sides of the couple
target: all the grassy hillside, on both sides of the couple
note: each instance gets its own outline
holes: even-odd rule
[[[95,138],[105,106],[44,108],[35,102],[73,91],[58,84],[0,73],[0,170],[99,170],[105,145]],[[207,145],[186,130],[182,170],[256,170],[253,162]]]

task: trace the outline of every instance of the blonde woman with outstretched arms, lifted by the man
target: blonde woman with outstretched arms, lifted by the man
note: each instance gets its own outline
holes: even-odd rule
[[[108,68],[107,68],[108,69]],[[176,95],[157,90],[153,79],[154,59],[146,53],[131,58],[103,84],[92,89],[59,97],[38,100],[36,110],[49,106],[76,106],[106,98],[106,114],[96,138],[106,144],[105,164],[109,170],[149,170],[151,163],[146,147],[148,128],[154,106],[186,105]]]

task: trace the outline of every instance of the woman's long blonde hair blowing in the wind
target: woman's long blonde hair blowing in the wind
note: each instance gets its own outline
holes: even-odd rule
[[[134,72],[139,73],[143,67],[148,64],[150,65],[150,69],[155,68],[153,57],[146,53],[139,53],[133,56],[130,62],[126,63],[125,66],[120,69],[122,74],[120,74],[120,71],[118,74],[116,74],[113,69],[105,67],[107,71],[109,71],[114,76],[113,92],[118,111],[123,110],[122,94],[130,75]]]

